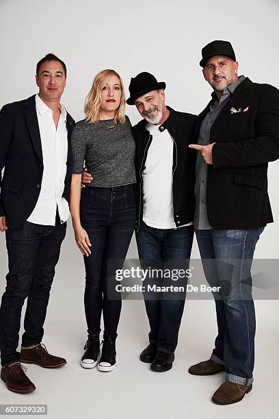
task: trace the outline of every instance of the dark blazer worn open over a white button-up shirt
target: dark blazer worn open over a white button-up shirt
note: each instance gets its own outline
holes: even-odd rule
[[[35,96],[9,103],[0,112],[0,216],[10,229],[18,229],[30,216],[38,201],[44,162]],[[64,198],[70,201],[72,149],[70,134],[75,121],[67,114],[68,157]]]

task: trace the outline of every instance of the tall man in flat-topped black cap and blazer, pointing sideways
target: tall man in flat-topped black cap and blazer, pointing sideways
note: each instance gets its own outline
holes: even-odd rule
[[[212,285],[218,335],[208,361],[191,374],[226,371],[213,394],[221,405],[241,401],[252,390],[255,313],[250,268],[256,242],[272,223],[267,165],[279,157],[279,91],[238,76],[230,42],[202,49],[204,79],[214,92],[198,116],[195,231]]]

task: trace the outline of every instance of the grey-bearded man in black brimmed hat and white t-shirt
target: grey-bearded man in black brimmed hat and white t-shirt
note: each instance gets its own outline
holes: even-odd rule
[[[196,116],[165,106],[165,83],[150,73],[131,78],[129,105],[144,118],[133,127],[137,175],[136,240],[142,266],[187,270],[194,236],[194,170],[191,143]],[[181,281],[186,285],[187,279]],[[145,285],[154,284],[148,277]],[[168,282],[168,281],[167,281]],[[157,278],[160,285],[164,278]],[[169,283],[174,283],[171,279]],[[175,283],[177,285],[177,283]],[[183,288],[183,287],[182,287]],[[140,359],[151,370],[172,368],[185,292],[144,293],[149,345]]]

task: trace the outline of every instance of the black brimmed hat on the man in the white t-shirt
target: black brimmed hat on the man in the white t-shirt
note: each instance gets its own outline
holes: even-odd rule
[[[135,99],[142,96],[143,94],[152,92],[152,90],[157,89],[165,90],[165,82],[157,81],[154,75],[147,73],[146,71],[139,73],[135,77],[131,78],[129,84],[130,97],[126,102],[128,105],[134,105]]]

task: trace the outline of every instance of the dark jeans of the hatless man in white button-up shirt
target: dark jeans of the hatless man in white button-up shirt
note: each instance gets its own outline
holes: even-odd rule
[[[66,223],[55,226],[25,221],[19,229],[5,232],[9,273],[0,308],[1,364],[18,362],[18,333],[21,310],[27,298],[22,346],[40,344],[49,292],[59,259],[60,247],[66,235]]]

